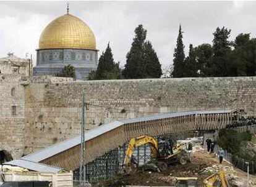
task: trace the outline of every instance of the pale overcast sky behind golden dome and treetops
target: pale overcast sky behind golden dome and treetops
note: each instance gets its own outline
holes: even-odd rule
[[[66,14],[66,1],[0,1],[0,7],[0,57],[28,52],[34,63],[41,32]],[[93,30],[99,57],[110,42],[114,60],[123,66],[134,29],[143,24],[162,68],[172,63],[179,23],[187,53],[190,43],[211,44],[217,26],[230,28],[231,39],[239,33],[256,37],[255,8],[254,1],[70,1],[70,14]]]

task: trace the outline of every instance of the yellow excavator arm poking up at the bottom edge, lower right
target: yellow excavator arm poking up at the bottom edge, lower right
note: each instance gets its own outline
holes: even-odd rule
[[[218,173],[214,173],[203,180],[204,187],[212,187],[216,180],[221,181],[222,187],[229,187],[228,180],[226,179],[224,170],[220,170]]]

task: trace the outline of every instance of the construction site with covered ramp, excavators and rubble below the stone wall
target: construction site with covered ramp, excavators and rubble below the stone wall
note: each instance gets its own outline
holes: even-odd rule
[[[2,163],[3,186],[256,186],[256,121],[237,109],[84,128],[77,137]]]

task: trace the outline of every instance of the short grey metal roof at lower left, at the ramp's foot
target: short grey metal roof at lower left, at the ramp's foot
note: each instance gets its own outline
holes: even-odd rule
[[[18,166],[18,167],[23,167],[28,170],[33,170],[35,172],[56,173],[56,172],[61,172],[63,170],[60,167],[53,167],[51,165],[27,161],[24,159],[17,159],[14,161],[6,162],[3,165],[14,165],[14,166]]]

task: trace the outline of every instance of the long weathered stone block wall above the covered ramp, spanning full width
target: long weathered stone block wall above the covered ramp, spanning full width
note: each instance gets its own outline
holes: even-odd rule
[[[20,118],[10,117],[13,84],[20,90],[20,97],[15,100]],[[15,145],[12,153],[20,150],[14,157],[79,133],[82,93],[88,103],[87,129],[114,119],[188,110],[239,108],[255,114],[256,102],[254,77],[75,82],[43,76],[0,82],[0,88],[1,103],[10,109],[0,108],[0,125],[5,127],[0,129],[0,149],[10,145],[4,137],[11,134]],[[4,113],[10,116],[4,117]]]

